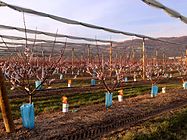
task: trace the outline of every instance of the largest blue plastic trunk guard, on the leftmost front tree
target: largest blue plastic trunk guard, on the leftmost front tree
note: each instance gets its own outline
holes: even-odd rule
[[[34,128],[34,105],[33,104],[23,104],[20,107],[21,118],[23,127],[28,129]]]

